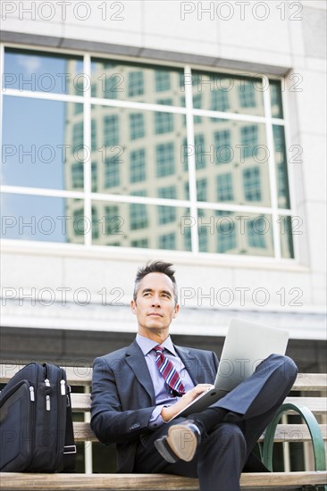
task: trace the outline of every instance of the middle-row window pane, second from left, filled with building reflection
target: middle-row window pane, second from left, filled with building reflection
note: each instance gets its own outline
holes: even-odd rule
[[[147,196],[158,197],[157,177],[171,176],[172,179],[175,176],[175,181],[178,175],[177,199],[189,198],[189,195],[185,196],[184,188],[184,183],[189,180],[188,155],[182,157],[180,154],[181,144],[186,141],[181,115],[164,112],[164,117],[168,116],[173,121],[173,130],[154,134],[156,114],[161,113],[92,105],[97,142],[92,161],[97,164],[98,175],[105,175],[108,161],[115,159],[120,162],[119,184],[109,187],[107,180],[97,179],[96,192],[140,196],[138,183],[142,182]]]

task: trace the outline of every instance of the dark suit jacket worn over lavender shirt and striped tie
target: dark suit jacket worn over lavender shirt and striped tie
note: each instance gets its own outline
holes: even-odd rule
[[[214,383],[214,352],[174,346],[194,384]],[[132,472],[138,439],[152,431],[154,386],[144,354],[136,341],[96,358],[93,364],[91,428],[104,444],[117,444],[118,470]]]

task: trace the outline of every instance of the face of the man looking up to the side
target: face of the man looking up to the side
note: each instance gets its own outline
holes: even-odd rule
[[[164,273],[149,273],[138,285],[136,302],[130,302],[138,318],[138,332],[149,337],[151,332],[169,329],[180,306],[175,305],[172,280]],[[167,332],[168,336],[168,332]]]

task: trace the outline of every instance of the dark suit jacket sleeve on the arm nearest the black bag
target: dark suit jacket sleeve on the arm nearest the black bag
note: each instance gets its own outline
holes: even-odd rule
[[[105,357],[93,363],[91,394],[91,428],[98,440],[104,444],[132,442],[148,429],[155,406],[141,409],[139,404],[142,387],[124,377],[119,365]],[[145,395],[146,396],[146,395]]]

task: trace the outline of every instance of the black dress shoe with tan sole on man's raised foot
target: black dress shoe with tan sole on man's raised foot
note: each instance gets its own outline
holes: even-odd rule
[[[155,448],[167,462],[177,462],[179,459],[189,462],[197,452],[201,441],[201,432],[193,420],[172,425],[168,435],[155,440]]]

